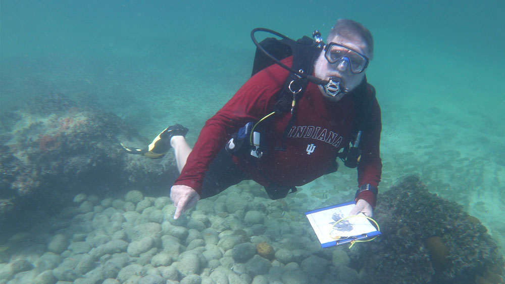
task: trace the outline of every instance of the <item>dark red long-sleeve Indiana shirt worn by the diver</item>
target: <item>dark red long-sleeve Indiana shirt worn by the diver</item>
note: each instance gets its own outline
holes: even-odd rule
[[[283,62],[291,66],[292,58]],[[274,64],[252,76],[221,110],[207,120],[174,184],[190,186],[200,194],[205,172],[218,152],[245,123],[259,121],[272,112],[287,75],[287,70]],[[265,129],[262,135],[268,137],[267,153],[263,157],[233,156],[233,161],[249,178],[264,186],[272,183],[300,186],[313,181],[328,173],[338,151],[349,144],[357,118],[354,104],[352,91],[339,102],[330,102],[316,84],[309,83],[296,103],[295,121],[285,138],[286,150],[276,151],[274,148],[281,146],[290,112],[260,124],[264,124]],[[381,117],[375,98],[367,119],[373,120],[375,128],[364,131],[361,137],[358,185],[370,183],[377,186],[382,167],[379,157]],[[313,151],[309,151],[311,149]],[[357,199],[365,199],[375,206],[375,197],[369,191],[362,192]]]

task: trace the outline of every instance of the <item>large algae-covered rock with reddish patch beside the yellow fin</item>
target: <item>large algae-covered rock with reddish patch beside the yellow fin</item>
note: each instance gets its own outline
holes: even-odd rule
[[[26,107],[3,113],[2,121],[0,225],[14,222],[11,219],[19,217],[14,212],[56,211],[61,209],[57,205],[72,201],[78,206],[93,193],[105,195],[135,186],[154,190],[177,176],[174,163],[160,166],[124,151],[120,143],[142,148],[149,139],[121,118],[62,94],[35,97]],[[128,198],[142,199],[138,193]],[[80,208],[84,213],[92,210],[93,200],[88,202]]]

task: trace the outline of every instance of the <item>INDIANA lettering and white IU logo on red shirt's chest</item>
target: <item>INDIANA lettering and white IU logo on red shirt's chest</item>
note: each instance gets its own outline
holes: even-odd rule
[[[312,125],[302,125],[302,126],[293,126],[289,130],[287,134],[287,138],[305,138],[305,139],[314,139],[319,141],[324,141],[325,143],[330,144],[335,148],[339,148],[342,143],[343,137],[338,133],[333,132],[332,130],[328,130],[321,126],[312,126]],[[314,144],[309,144],[307,146],[307,154],[314,153],[316,146]]]

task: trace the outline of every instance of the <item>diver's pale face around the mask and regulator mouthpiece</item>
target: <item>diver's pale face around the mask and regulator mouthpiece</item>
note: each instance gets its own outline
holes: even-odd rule
[[[337,35],[333,38],[329,38],[328,43],[330,42],[335,42],[337,44],[346,46],[347,48],[355,50],[362,55],[367,56],[368,58],[371,57],[365,42],[363,42],[360,38],[346,38]],[[319,58],[316,60],[314,73],[316,77],[324,80],[328,80],[332,76],[340,78],[342,82],[341,84],[345,89],[348,89],[348,91],[356,88],[365,77],[365,72],[352,73],[349,61],[340,60],[331,64],[325,57],[325,51],[322,51],[319,55]],[[332,97],[324,91],[322,86],[319,86],[319,88],[323,93],[323,96],[333,102],[338,102],[345,95],[345,92],[343,92],[337,94],[335,97]]]

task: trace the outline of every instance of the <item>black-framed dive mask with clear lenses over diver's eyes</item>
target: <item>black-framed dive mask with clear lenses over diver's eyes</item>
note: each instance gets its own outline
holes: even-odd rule
[[[369,63],[368,57],[335,42],[326,44],[324,51],[324,56],[330,64],[337,65],[344,60],[349,65],[350,71],[355,74],[365,71]]]

